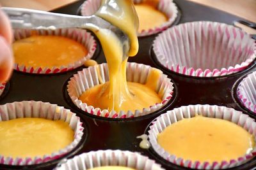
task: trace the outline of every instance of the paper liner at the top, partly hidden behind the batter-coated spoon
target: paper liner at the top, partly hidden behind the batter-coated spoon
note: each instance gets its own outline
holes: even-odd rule
[[[83,16],[93,15],[100,8],[100,2],[101,2],[100,0],[84,1],[83,5],[81,6],[81,14]],[[145,0],[134,0],[133,2],[134,4],[138,4],[138,3],[145,2]],[[173,3],[172,0],[159,0],[159,3],[157,5],[157,10],[164,13],[168,18],[168,20],[164,22],[162,25],[160,25],[159,27],[153,27],[151,29],[138,32],[137,35],[139,37],[149,36],[167,29],[168,27],[170,27],[170,25],[173,24],[173,22],[175,21],[179,13],[177,6],[175,5],[175,3]]]

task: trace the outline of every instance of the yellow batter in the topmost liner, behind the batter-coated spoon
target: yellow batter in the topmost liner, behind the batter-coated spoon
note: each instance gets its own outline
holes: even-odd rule
[[[154,29],[154,27],[160,27],[168,20],[164,13],[157,10],[156,7],[149,3],[135,4],[135,9],[140,20],[139,32]]]

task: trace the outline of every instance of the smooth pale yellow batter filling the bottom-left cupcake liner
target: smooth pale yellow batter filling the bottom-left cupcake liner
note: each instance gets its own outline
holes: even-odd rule
[[[74,131],[62,120],[16,118],[0,122],[0,155],[35,157],[51,155],[74,140]]]

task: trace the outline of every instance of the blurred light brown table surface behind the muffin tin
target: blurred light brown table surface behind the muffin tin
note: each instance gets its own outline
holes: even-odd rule
[[[54,10],[68,3],[79,0],[0,0],[2,6],[12,6],[20,8],[32,8],[36,10]],[[256,22],[256,0],[189,0],[206,6],[211,6],[219,10],[227,11],[233,15]]]

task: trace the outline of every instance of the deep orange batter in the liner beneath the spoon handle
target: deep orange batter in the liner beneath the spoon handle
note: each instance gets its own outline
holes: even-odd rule
[[[15,62],[26,67],[60,67],[87,55],[88,50],[73,39],[61,36],[31,36],[12,45]]]

